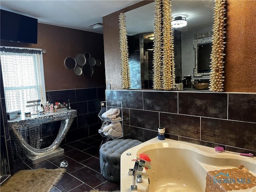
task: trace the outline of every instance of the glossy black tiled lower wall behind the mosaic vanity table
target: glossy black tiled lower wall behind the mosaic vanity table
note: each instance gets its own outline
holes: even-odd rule
[[[100,102],[105,100],[105,87],[46,91],[46,99],[49,102],[67,102],[70,99],[70,106],[77,110],[77,117],[74,119],[70,130],[62,144],[70,143],[98,133],[101,127]],[[58,122],[46,124],[43,128],[42,146],[47,146],[58,134]]]

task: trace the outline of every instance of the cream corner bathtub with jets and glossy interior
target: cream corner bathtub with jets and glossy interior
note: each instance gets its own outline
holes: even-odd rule
[[[236,168],[240,164],[256,176],[255,157],[218,153],[214,148],[156,137],[121,155],[121,192],[132,191],[133,177],[128,171],[134,167],[133,160],[140,153],[151,158],[151,169],[143,169],[143,182],[136,183],[138,192],[204,192],[208,171]],[[238,191],[256,192],[256,186]]]

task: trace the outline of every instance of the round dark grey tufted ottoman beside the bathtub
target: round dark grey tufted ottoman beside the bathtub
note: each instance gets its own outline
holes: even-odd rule
[[[134,139],[116,139],[102,144],[100,147],[100,172],[103,177],[110,182],[120,182],[122,153],[141,143]]]

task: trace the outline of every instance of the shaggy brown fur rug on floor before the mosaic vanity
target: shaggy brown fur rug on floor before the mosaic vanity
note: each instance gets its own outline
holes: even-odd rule
[[[22,170],[0,187],[1,192],[49,192],[66,171],[65,168]]]

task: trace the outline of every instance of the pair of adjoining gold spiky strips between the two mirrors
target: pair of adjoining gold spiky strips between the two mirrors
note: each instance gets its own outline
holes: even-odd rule
[[[174,37],[171,0],[155,0],[153,88],[175,89]]]

